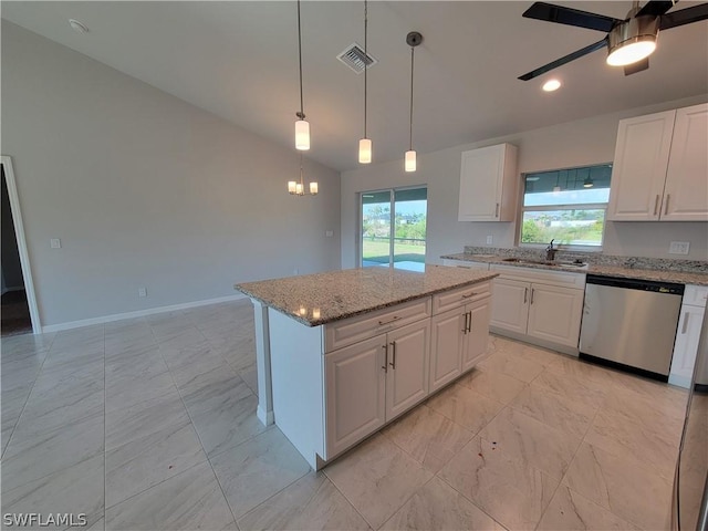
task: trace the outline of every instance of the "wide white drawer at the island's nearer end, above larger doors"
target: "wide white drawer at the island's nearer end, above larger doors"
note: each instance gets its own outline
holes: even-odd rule
[[[345,319],[324,327],[324,352],[332,352],[430,316],[430,298]]]

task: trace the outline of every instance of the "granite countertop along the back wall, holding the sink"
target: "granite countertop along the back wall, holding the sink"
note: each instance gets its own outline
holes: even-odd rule
[[[585,273],[585,274],[596,274],[602,277],[620,277],[624,279],[641,279],[641,280],[654,280],[658,282],[675,282],[678,284],[696,284],[696,285],[708,285],[708,273],[699,272],[699,271],[685,271],[671,269],[670,264],[664,263],[664,261],[656,261],[657,264],[660,264],[663,269],[649,269],[647,266],[650,266],[652,261],[646,260],[646,264],[642,267],[627,267],[621,263],[589,263],[586,268],[573,268],[573,267],[559,267],[559,266],[546,266],[542,263],[528,263],[528,262],[508,262],[504,261],[506,258],[510,258],[512,253],[504,254],[487,254],[487,253],[469,253],[469,252],[460,252],[457,254],[444,254],[440,258],[447,260],[461,260],[468,262],[483,262],[483,263],[494,263],[499,266],[511,266],[519,268],[532,268],[532,269],[546,269],[552,271],[563,271],[566,273]],[[538,257],[537,257],[538,259]],[[632,263],[631,258],[625,257],[624,262],[629,261]]]

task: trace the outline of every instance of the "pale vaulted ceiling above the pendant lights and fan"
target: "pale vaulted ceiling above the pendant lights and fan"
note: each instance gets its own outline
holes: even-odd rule
[[[523,19],[530,1],[374,1],[368,6],[368,137],[374,163],[408,148],[409,31],[416,49],[414,148],[444,147],[708,93],[708,21],[659,35],[648,71],[625,77],[598,51],[538,80],[517,77],[602,39]],[[624,18],[631,2],[558,2]],[[674,9],[700,2],[680,2]],[[308,156],[358,167],[363,75],[336,60],[363,45],[362,1],[302,3]],[[248,131],[292,146],[299,110],[294,1],[2,2],[2,18],[137,77]],[[73,31],[77,19],[90,32]],[[563,86],[543,93],[555,76]],[[293,146],[294,148],[294,146]],[[423,156],[420,164],[423,163]],[[402,163],[403,164],[403,163]]]

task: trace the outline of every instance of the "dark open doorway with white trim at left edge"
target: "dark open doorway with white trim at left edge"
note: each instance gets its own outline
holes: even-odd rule
[[[0,157],[1,273],[0,333],[9,335],[40,333],[39,312],[32,285],[24,228],[10,157]]]

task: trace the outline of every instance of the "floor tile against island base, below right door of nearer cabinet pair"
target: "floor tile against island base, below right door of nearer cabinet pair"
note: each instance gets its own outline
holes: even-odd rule
[[[427,406],[415,408],[383,433],[434,473],[472,438],[469,430]]]

